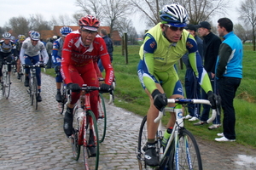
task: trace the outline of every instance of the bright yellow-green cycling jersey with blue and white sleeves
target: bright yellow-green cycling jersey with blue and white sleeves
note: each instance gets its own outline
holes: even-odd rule
[[[189,34],[189,31],[183,30],[182,37],[178,42],[169,42],[164,37],[160,24],[154,26],[146,33],[143,45],[140,48],[139,54],[141,62],[143,62],[143,66],[141,66],[143,71],[138,73],[141,74],[139,76],[143,86],[152,94],[154,89],[156,89],[155,82],[177,82],[178,77],[174,65],[178,59],[182,58],[183,54],[188,53],[189,62],[195,71],[195,76],[198,78],[201,87],[206,92],[212,91],[209,77],[202,66],[201,57],[197,51],[195,38]],[[173,94],[174,90],[167,89],[170,88],[168,85],[165,85],[163,88],[165,92],[168,91],[166,93],[167,97]],[[172,84],[171,88],[175,88],[175,85]]]

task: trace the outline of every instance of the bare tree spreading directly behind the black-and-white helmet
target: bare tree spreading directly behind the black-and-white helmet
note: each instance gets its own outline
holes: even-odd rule
[[[131,5],[135,12],[143,14],[149,20],[148,26],[154,26],[160,22],[159,11],[166,4],[179,3],[187,9],[189,23],[198,24],[199,21],[209,20],[214,14],[225,14],[230,6],[229,2],[230,0],[131,0]]]

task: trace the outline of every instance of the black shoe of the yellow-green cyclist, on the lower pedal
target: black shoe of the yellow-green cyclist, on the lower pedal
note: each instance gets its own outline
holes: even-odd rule
[[[145,162],[149,167],[157,167],[160,165],[154,143],[147,144],[147,150],[145,151]]]

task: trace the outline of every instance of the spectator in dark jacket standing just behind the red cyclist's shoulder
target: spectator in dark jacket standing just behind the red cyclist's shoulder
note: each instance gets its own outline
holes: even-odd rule
[[[113,61],[113,42],[112,42],[111,38],[108,37],[106,29],[102,29],[100,31],[100,36],[104,39],[104,41],[106,43],[106,46],[107,46],[107,49],[108,49],[108,54],[110,56],[110,60],[111,60],[111,63],[112,63],[112,61]],[[101,72],[104,71],[104,67],[102,65],[102,60],[101,59],[98,60],[98,66],[99,66],[99,69],[100,69]]]

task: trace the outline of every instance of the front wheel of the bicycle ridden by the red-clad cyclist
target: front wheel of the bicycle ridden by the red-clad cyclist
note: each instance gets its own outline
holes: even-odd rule
[[[84,167],[86,170],[89,169],[98,169],[98,164],[99,164],[99,155],[100,155],[100,150],[99,150],[99,138],[98,138],[98,130],[97,130],[97,124],[96,124],[96,117],[94,116],[94,113],[92,111],[88,111],[86,114],[87,120],[91,124],[87,124],[86,130],[84,131],[84,136],[86,136],[86,142],[84,143]],[[90,121],[91,120],[91,121]],[[90,143],[90,133],[87,133],[90,131],[90,126],[92,127],[92,135],[94,137],[94,144],[89,144]],[[95,152],[96,154],[94,156],[90,156],[90,148],[91,146],[95,147]]]

